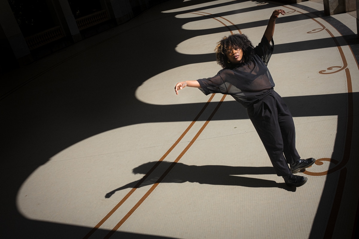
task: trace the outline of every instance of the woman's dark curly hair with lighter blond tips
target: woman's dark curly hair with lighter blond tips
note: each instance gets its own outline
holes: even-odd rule
[[[228,48],[232,47],[239,47],[242,49],[244,63],[248,63],[253,59],[255,54],[254,47],[248,37],[244,34],[229,35],[228,37],[222,38],[214,49],[216,53],[216,61],[222,68],[230,68],[234,66],[233,63],[228,63],[228,57],[226,55]]]

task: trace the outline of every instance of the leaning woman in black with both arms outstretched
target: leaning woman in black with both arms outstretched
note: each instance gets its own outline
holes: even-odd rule
[[[300,159],[295,148],[292,115],[283,99],[273,90],[274,82],[267,68],[273,52],[275,20],[279,14],[284,15],[285,11],[273,11],[257,47],[253,47],[243,34],[224,37],[215,48],[217,63],[223,69],[211,78],[179,82],[174,90],[178,95],[178,90],[188,86],[199,88],[206,95],[231,95],[247,108],[276,174],[284,178],[286,185],[299,187],[308,179],[293,173],[311,166],[315,159]]]

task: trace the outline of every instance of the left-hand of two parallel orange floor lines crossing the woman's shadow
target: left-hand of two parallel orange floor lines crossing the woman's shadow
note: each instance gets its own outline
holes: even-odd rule
[[[187,134],[187,132],[192,128],[192,126],[196,123],[196,121],[199,119],[199,117],[201,116],[201,114],[205,111],[205,109],[207,108],[207,106],[209,105],[209,103],[211,102],[211,100],[213,99],[215,94],[212,94],[211,97],[209,98],[209,100],[206,102],[206,104],[202,107],[201,111],[197,114],[197,116],[195,117],[194,120],[192,120],[191,124],[187,127],[187,129],[181,134],[181,136],[176,140],[176,142],[174,142],[174,144],[171,146],[171,148],[169,148],[167,150],[167,152],[165,152],[163,154],[163,156],[158,160],[158,162],[146,173],[146,175],[144,175],[140,181],[122,198],[122,200],[115,206],[113,207],[113,209],[108,212],[108,214],[106,216],[104,216],[104,218],[99,221],[99,223],[97,225],[94,226],[94,228],[92,228],[88,234],[86,234],[84,236],[83,239],[87,239],[89,238],[131,195],[132,193],[134,193],[136,191],[136,189],[138,187],[140,187],[140,185],[146,180],[146,178],[155,170],[155,168],[157,168],[157,166],[160,164],[160,162],[162,162],[169,153],[171,153],[171,151],[177,146],[178,143],[180,143],[180,141],[182,140],[183,137],[185,137],[185,135]]]

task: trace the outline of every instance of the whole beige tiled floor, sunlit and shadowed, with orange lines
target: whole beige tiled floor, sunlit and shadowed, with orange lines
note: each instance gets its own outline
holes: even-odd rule
[[[269,69],[300,155],[318,159],[299,188],[230,96],[173,91],[220,70],[213,49],[230,31],[257,43],[278,8]],[[322,11],[171,0],[1,76],[2,238],[351,238],[356,19]]]

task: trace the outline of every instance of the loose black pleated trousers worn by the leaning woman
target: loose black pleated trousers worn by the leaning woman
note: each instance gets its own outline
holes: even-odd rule
[[[288,107],[280,95],[272,91],[247,108],[247,112],[277,175],[287,176],[290,173],[288,163],[300,158],[295,149],[295,127]]]

